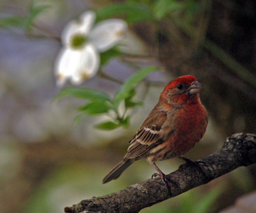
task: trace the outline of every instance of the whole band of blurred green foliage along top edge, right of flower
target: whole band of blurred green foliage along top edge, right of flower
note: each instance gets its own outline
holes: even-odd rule
[[[182,11],[186,20],[192,19],[200,10],[195,0],[127,0],[110,3],[97,11],[97,21],[118,16],[128,23],[149,22],[164,18],[170,12]]]

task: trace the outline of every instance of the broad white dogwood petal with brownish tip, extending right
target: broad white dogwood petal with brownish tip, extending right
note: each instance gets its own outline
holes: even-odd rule
[[[89,42],[100,52],[114,47],[124,36],[128,25],[121,19],[108,19],[99,22],[90,32]]]

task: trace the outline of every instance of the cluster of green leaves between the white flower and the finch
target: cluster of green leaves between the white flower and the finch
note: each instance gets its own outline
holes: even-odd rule
[[[136,94],[135,87],[150,72],[155,70],[157,70],[157,67],[151,66],[137,71],[128,78],[113,98],[110,98],[106,93],[98,90],[88,88],[66,88],[56,95],[54,101],[59,100],[63,96],[73,96],[89,101],[84,106],[78,108],[78,111],[81,112],[81,114],[75,118],[74,125],[83,119],[85,115],[108,114],[111,110],[115,113],[115,118],[96,125],[96,128],[101,130],[112,130],[121,126],[128,128],[130,118],[126,115],[127,109],[143,104],[142,102],[132,100]],[[123,112],[123,115],[120,116],[118,108],[122,101],[125,102],[125,111]]]

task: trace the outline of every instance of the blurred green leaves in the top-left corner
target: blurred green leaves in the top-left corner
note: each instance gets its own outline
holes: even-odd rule
[[[0,20],[0,27],[19,27],[22,28],[25,32],[30,32],[34,20],[44,12],[46,9],[50,8],[50,5],[35,5],[33,2],[30,4],[26,16],[10,16],[7,18],[2,18]]]

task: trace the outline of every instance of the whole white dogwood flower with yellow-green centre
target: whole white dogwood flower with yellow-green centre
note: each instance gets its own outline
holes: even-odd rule
[[[128,25],[121,19],[108,19],[95,26],[96,14],[87,11],[78,21],[69,22],[61,34],[63,45],[56,61],[56,83],[63,86],[67,79],[78,85],[96,75],[100,67],[100,52],[114,47],[124,37]]]

